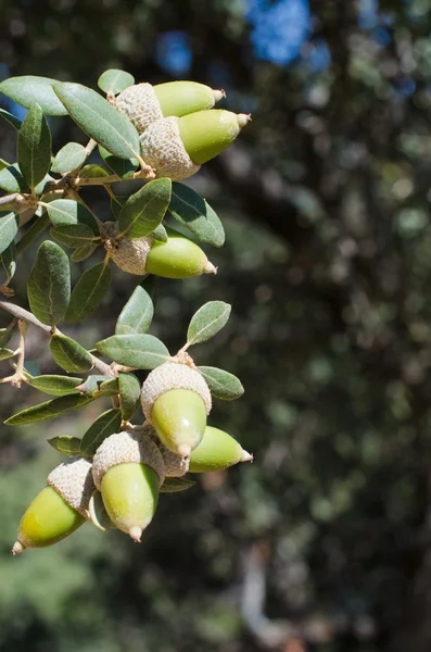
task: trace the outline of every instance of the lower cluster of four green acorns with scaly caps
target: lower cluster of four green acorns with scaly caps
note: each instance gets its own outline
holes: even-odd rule
[[[230,435],[206,425],[211,393],[189,355],[149,374],[141,405],[142,427],[125,424],[124,430],[100,444],[92,461],[69,457],[50,473],[48,486],[21,521],[13,554],[55,543],[86,521],[98,525],[93,507],[100,497],[107,527],[139,542],[166,477],[253,460]]]

